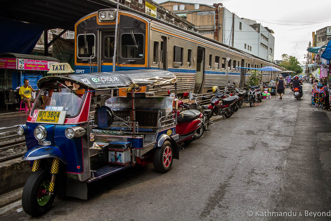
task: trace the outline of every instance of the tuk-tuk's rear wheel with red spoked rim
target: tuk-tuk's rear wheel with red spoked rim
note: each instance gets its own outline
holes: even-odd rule
[[[153,164],[157,172],[166,173],[172,165],[172,145],[165,141],[161,147],[157,147],[153,155]]]

